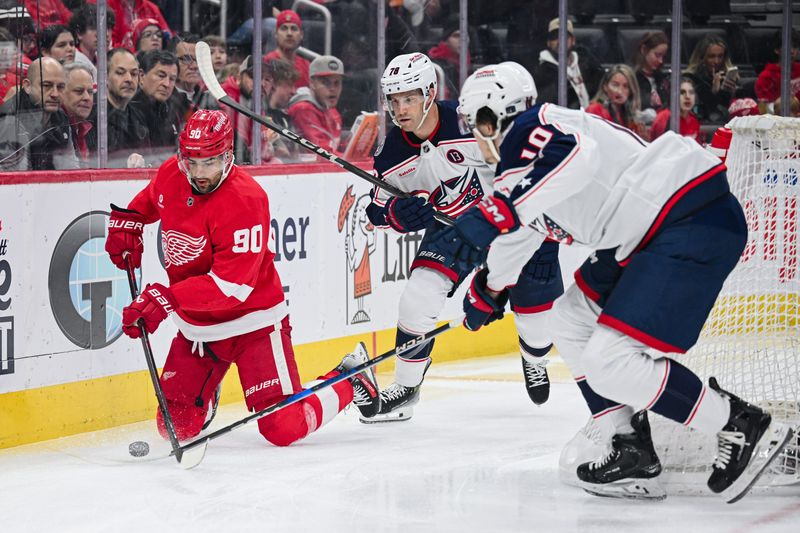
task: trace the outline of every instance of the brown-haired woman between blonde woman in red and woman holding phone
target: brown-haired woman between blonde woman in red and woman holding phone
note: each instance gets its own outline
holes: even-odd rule
[[[669,73],[661,67],[669,51],[669,39],[663,31],[645,33],[633,56],[633,68],[639,83],[642,111],[655,112],[669,107]]]

